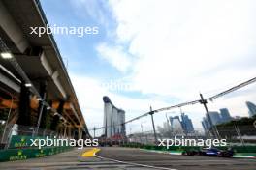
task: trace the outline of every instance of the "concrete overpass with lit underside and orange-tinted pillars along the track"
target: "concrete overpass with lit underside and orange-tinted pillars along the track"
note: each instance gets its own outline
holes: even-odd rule
[[[38,0],[0,1],[0,52],[10,54],[0,57],[0,110],[12,110],[9,124],[37,127],[39,123],[40,128],[65,136],[88,137],[53,36],[30,34],[30,27],[47,24]]]

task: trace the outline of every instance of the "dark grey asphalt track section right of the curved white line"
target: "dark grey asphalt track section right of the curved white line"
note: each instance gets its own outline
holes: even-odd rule
[[[176,170],[256,170],[256,159],[177,156],[140,149],[102,148],[98,156]]]

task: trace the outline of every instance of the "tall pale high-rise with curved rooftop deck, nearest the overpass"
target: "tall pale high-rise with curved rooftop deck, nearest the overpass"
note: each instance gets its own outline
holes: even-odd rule
[[[103,97],[104,101],[104,131],[106,137],[115,134],[125,135],[125,112],[116,108],[109,97]]]

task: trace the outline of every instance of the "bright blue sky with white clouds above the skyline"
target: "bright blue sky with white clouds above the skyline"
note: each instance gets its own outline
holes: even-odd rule
[[[150,105],[199,99],[200,92],[209,97],[256,75],[254,0],[41,2],[51,25],[99,27],[97,35],[54,36],[89,128],[102,126],[105,95],[128,120]],[[256,102],[255,88],[216,99],[209,109],[247,116],[244,102]],[[202,105],[182,110],[202,128]],[[165,115],[155,116],[157,125]],[[144,124],[149,128],[149,119]]]

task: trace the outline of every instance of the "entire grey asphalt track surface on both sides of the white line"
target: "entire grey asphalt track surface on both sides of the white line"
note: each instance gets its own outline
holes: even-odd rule
[[[104,147],[94,157],[82,157],[90,150],[74,149],[69,152],[1,162],[0,169],[55,170],[55,169],[97,169],[97,170],[256,170],[256,159],[220,158],[207,156],[176,156],[148,152],[140,149]]]

